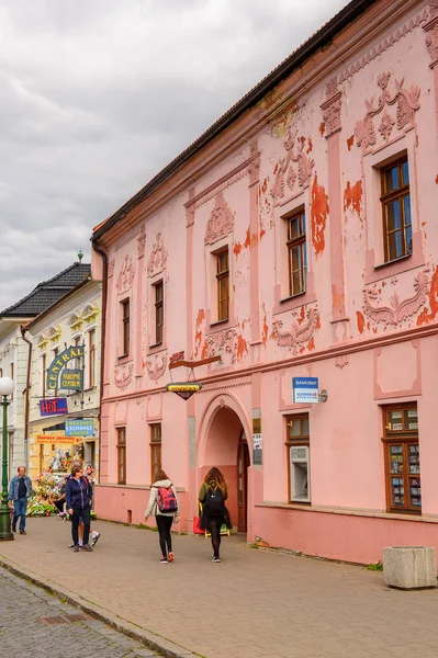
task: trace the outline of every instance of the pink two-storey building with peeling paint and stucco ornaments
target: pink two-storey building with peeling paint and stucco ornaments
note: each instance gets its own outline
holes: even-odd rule
[[[353,0],[97,227],[100,515],[162,464],[190,531],[216,465],[248,541],[438,545],[437,63],[436,0]]]

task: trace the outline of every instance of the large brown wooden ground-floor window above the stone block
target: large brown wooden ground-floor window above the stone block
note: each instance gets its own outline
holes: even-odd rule
[[[416,404],[383,408],[386,508],[389,512],[422,512],[418,413]]]

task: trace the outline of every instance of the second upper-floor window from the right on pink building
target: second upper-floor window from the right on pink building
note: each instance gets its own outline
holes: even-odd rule
[[[288,218],[289,295],[305,293],[307,252],[304,211]]]

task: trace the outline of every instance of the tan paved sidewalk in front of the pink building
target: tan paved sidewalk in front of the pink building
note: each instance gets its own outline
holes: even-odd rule
[[[104,617],[206,658],[437,658],[438,590],[404,592],[382,574],[224,537],[176,536],[173,564],[158,563],[158,536],[97,522],[93,553],[66,546],[70,526],[30,519],[26,536],[0,543],[0,563],[33,575]],[[170,646],[170,645],[169,645]],[[175,645],[172,645],[175,646]],[[177,655],[177,654],[175,654]],[[180,655],[184,655],[183,649]]]

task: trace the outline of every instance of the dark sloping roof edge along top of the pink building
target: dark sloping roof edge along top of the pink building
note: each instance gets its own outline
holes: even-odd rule
[[[96,232],[91,236],[91,241],[97,241],[120,219],[125,217],[142,201],[147,198],[166,179],[184,164],[204,146],[212,141],[220,133],[235,122],[246,110],[259,102],[269,91],[288,77],[305,59],[311,57],[316,50],[346,27],[351,21],[363,13],[369,7],[378,0],[351,0],[341,9],[328,23],[323,25],[313,36],[311,36],[292,55],[287,57],[277,68],[263,78],[256,87],[246,93],[240,101],[233,105],[221,118],[211,125],[193,144],[181,151],[169,164],[159,171],[139,192],[124,203],[119,211],[111,215],[106,220],[98,224]]]

